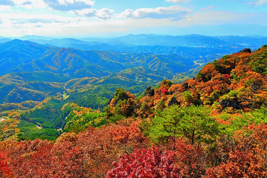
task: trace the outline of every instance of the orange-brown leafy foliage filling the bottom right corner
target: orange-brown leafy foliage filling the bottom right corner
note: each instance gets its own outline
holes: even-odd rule
[[[236,142],[229,160],[206,170],[204,178],[266,177],[267,125],[250,125],[233,135]]]

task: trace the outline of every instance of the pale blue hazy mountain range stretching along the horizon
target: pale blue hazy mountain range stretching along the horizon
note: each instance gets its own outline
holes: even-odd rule
[[[8,39],[0,37],[0,42]],[[117,50],[117,45],[142,45],[142,46],[172,46],[172,47],[215,47],[220,45],[249,46],[258,48],[266,42],[267,37],[262,35],[246,36],[204,36],[198,34],[171,36],[155,34],[129,34],[116,38],[82,38],[82,39],[53,39],[52,37],[25,35],[19,37],[21,40],[33,41],[39,44],[49,44],[58,47],[75,47],[82,50]],[[115,46],[115,47],[114,47]],[[124,47],[123,47],[124,48]]]

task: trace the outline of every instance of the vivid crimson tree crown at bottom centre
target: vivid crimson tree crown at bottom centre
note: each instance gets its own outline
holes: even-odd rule
[[[106,178],[182,178],[180,169],[175,165],[174,152],[159,152],[158,147],[134,150],[130,155],[120,157],[120,162],[113,162],[114,169]]]

